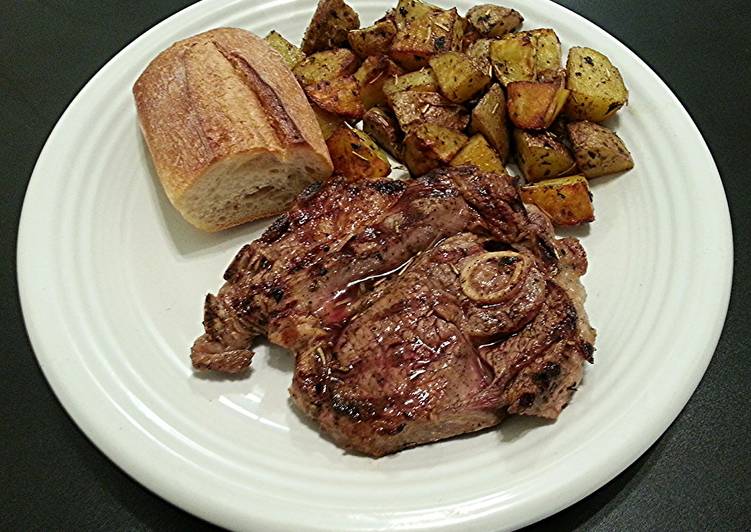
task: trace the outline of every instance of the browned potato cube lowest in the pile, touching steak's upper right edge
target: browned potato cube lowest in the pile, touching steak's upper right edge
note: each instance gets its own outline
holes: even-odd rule
[[[521,188],[522,201],[542,209],[555,225],[578,225],[595,219],[592,193],[583,175],[548,179]]]

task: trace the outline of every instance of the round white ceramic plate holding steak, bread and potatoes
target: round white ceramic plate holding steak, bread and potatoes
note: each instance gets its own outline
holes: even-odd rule
[[[353,1],[364,23],[394,2]],[[261,348],[243,379],[192,373],[202,301],[265,224],[205,235],[172,209],[130,88],[173,41],[231,25],[299,40],[312,1],[207,0],[108,63],[50,136],[18,249],[39,363],[92,441],[139,482],[231,528],[507,529],[617,475],[668,427],[712,356],[727,309],[731,229],[717,169],[686,111],[633,53],[551,2],[504,2],[620,68],[631,103],[613,125],[636,169],[593,185],[587,308],[596,364],[555,423],[497,430],[380,460],[343,453],[287,399],[292,362]],[[460,10],[471,6],[457,1]]]

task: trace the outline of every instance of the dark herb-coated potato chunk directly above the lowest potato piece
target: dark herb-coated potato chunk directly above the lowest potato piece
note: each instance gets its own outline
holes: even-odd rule
[[[576,168],[568,148],[549,131],[514,130],[516,163],[528,182],[551,179]]]

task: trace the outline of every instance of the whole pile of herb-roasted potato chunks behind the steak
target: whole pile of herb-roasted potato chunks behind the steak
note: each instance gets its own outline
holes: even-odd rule
[[[459,165],[506,173],[515,162],[525,202],[557,225],[590,222],[588,180],[634,165],[600,124],[628,90],[591,48],[571,48],[562,67],[555,31],[520,31],[523,21],[497,5],[461,16],[399,0],[361,28],[343,0],[320,0],[300,48],[273,31],[266,40],[310,100],[335,173],[385,177],[386,153],[412,176]]]

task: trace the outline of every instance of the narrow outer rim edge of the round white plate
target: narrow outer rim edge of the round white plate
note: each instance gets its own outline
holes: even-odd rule
[[[51,130],[50,134],[47,137],[47,140],[45,141],[44,147],[39,153],[24,195],[23,207],[17,232],[16,247],[16,279],[18,284],[19,300],[21,303],[21,309],[27,335],[37,362],[39,363],[39,366],[42,369],[42,372],[47,382],[49,383],[50,388],[53,390],[53,393],[55,394],[60,404],[63,406],[66,413],[71,417],[77,427],[89,439],[89,441],[91,441],[101,452],[105,454],[105,456],[107,456],[128,476],[139,482],[139,484],[149,489],[153,493],[159,495],[160,497],[166,499],[168,502],[177,505],[178,507],[189,513],[192,513],[193,515],[210,520],[212,522],[222,523],[227,526],[237,526],[238,522],[236,520],[227,520],[227,515],[219,514],[216,510],[208,508],[205,504],[203,505],[203,507],[201,507],[200,504],[195,504],[195,500],[191,500],[189,496],[186,497],[187,493],[185,490],[170,487],[167,485],[168,482],[161,481],[158,477],[147,474],[147,472],[143,470],[143,467],[141,467],[141,465],[137,463],[138,461],[134,460],[133,456],[125,456],[123,454],[118,454],[117,452],[115,452],[117,450],[117,445],[112,445],[111,441],[106,441],[108,439],[108,435],[103,433],[103,431],[101,430],[102,427],[97,426],[98,422],[94,419],[94,416],[92,416],[86,408],[81,408],[82,405],[77,404],[78,401],[75,399],[75,394],[71,393],[71,383],[65,382],[65,380],[62,378],[61,373],[54,372],[52,368],[48,364],[46,364],[51,355],[46,352],[42,353],[44,351],[41,347],[43,343],[42,336],[44,335],[44,333],[42,332],[43,328],[39,327],[40,320],[38,319],[38,317],[36,320],[32,318],[32,315],[34,314],[34,311],[32,310],[32,307],[34,307],[34,301],[32,297],[33,290],[30,288],[30,284],[33,280],[33,276],[30,273],[32,271],[30,264],[32,264],[32,261],[34,260],[34,243],[31,241],[31,238],[26,235],[31,234],[33,228],[33,219],[32,215],[30,214],[32,208],[29,207],[32,201],[30,200],[30,198],[32,198],[34,194],[38,194],[37,191],[41,186],[40,183],[44,179],[41,175],[40,170],[41,163],[45,159],[45,157],[50,157],[48,152],[52,150],[52,146],[54,145],[57,137],[62,134],[62,131],[64,131],[63,126],[66,120],[70,119],[70,115],[73,113],[76,106],[80,105],[79,102],[85,101],[86,95],[89,91],[92,90],[92,87],[95,85],[97,80],[100,77],[105,76],[107,72],[111,68],[113,68],[113,65],[120,61],[124,55],[127,55],[129,53],[129,50],[138,46],[139,43],[148,39],[164,26],[174,24],[176,18],[186,17],[193,11],[205,10],[208,13],[209,11],[213,11],[214,9],[218,8],[218,6],[221,6],[222,9],[225,9],[227,11],[231,11],[236,4],[240,3],[241,2],[237,0],[229,3],[222,3],[220,0],[202,0],[173,13],[150,29],[138,35],[128,45],[126,45],[110,60],[108,60],[102,67],[100,67],[99,70],[91,77],[91,79],[86,82],[86,84],[70,101],[65,111],[58,118],[54,128]],[[279,3],[288,2],[282,1]],[[312,3],[312,0],[310,3]],[[534,517],[527,520],[520,520],[519,522],[514,523],[514,526],[524,526],[548,517],[549,515],[552,515],[593,493],[595,490],[599,489],[600,487],[611,481],[613,478],[615,478],[617,475],[619,475],[629,465],[634,463],[641,455],[644,454],[644,452],[647,451],[647,449],[649,449],[654,444],[655,441],[657,441],[659,437],[662,436],[662,434],[665,433],[665,431],[670,428],[672,423],[681,413],[683,408],[690,400],[690,397],[693,395],[696,388],[700,384],[700,381],[703,378],[706,369],[716,351],[717,344],[722,334],[722,330],[724,328],[725,320],[727,317],[734,266],[732,223],[730,219],[727,195],[725,193],[724,185],[716,162],[714,161],[711,150],[709,149],[706,140],[704,139],[701,131],[691,117],[691,114],[683,106],[678,96],[670,89],[670,87],[662,80],[662,78],[626,44],[624,44],[620,39],[608,33],[597,24],[589,21],[577,12],[560,4],[555,4],[550,0],[535,0],[535,3],[544,4],[547,6],[552,6],[555,9],[563,10],[567,13],[568,16],[574,17],[576,20],[587,24],[591,29],[607,35],[607,37],[609,37],[620,47],[622,47],[624,53],[628,54],[632,61],[639,64],[639,66],[642,67],[645,71],[649,72],[654,78],[654,81],[661,85],[661,88],[665,91],[665,94],[669,95],[671,99],[675,101],[680,114],[683,115],[683,118],[685,118],[687,122],[692,126],[692,136],[695,137],[698,143],[701,145],[703,152],[701,154],[702,159],[705,160],[705,162],[707,162],[713,170],[711,175],[706,177],[706,180],[711,181],[715,185],[715,187],[713,187],[713,192],[717,194],[717,197],[715,197],[714,199],[716,201],[719,201],[721,204],[719,205],[721,207],[721,212],[715,212],[713,214],[716,218],[716,223],[723,226],[723,228],[725,229],[721,231],[722,238],[718,246],[722,248],[723,255],[727,257],[727,260],[724,264],[725,270],[724,272],[722,272],[722,280],[724,281],[723,285],[721,287],[717,287],[720,288],[720,290],[717,290],[717,292],[719,292],[719,295],[717,297],[717,305],[720,309],[722,309],[722,311],[716,315],[715,320],[711,326],[711,334],[705,338],[706,346],[702,349],[703,355],[700,359],[697,357],[697,366],[691,373],[691,382],[683,386],[683,388],[680,390],[681,393],[676,395],[677,399],[675,399],[671,403],[670,408],[666,408],[660,416],[656,416],[655,420],[653,420],[651,424],[651,428],[653,430],[650,431],[649,437],[641,438],[640,445],[636,446],[635,451],[629,453],[629,456],[622,457],[622,459],[618,461],[616,465],[610,468],[607,475],[602,476],[594,484],[590,483],[586,486],[578,486],[578,489],[572,489],[571,492],[562,497],[560,504],[556,506],[548,506],[545,511],[537,512]],[[719,185],[719,188],[716,188],[716,185]],[[661,428],[654,429],[653,426],[660,426]],[[493,514],[490,514],[490,516],[492,518]],[[278,520],[268,520],[268,518],[264,519],[264,516],[259,513],[254,515],[253,519],[255,520],[255,522],[250,524],[255,526],[263,526],[264,528],[272,530],[285,529],[284,522]],[[462,529],[466,529],[465,527],[469,525],[481,526],[483,524],[489,525],[491,523],[493,525],[498,525],[497,522],[492,521],[492,519],[489,520],[487,517],[485,517],[484,520],[478,519],[468,520],[466,522],[462,521],[458,526],[456,524],[453,526],[448,525],[446,526],[446,528],[452,529],[454,527],[462,527]],[[244,526],[247,525],[248,523],[245,522]]]

